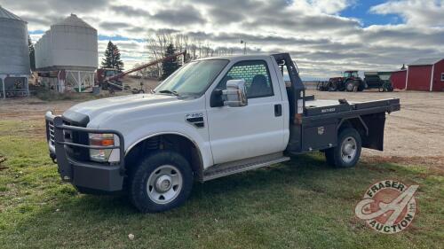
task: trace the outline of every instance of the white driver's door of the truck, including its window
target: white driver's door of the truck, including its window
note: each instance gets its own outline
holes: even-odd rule
[[[214,164],[284,150],[282,98],[276,75],[270,74],[272,66],[263,59],[242,60],[234,63],[218,82],[216,89],[226,89],[228,80],[244,80],[248,105],[208,106]]]

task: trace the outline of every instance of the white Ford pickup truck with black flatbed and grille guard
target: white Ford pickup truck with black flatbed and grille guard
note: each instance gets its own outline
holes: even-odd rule
[[[284,82],[282,75],[289,75]],[[126,192],[140,212],[179,206],[194,180],[321,151],[353,167],[361,147],[383,150],[385,113],[396,98],[368,102],[305,96],[288,53],[203,58],[151,94],[84,102],[45,114],[50,156],[83,193]]]

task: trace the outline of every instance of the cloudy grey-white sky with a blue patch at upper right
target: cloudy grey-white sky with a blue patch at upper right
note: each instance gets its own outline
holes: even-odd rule
[[[289,51],[301,74],[395,70],[444,57],[444,0],[0,0],[28,21],[33,40],[75,13],[99,32],[99,55],[118,44],[125,68],[148,61],[145,39],[186,34],[212,47]],[[100,59],[100,58],[99,58]]]

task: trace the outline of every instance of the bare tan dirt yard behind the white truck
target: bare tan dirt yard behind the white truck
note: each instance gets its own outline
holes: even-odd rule
[[[135,82],[131,84],[136,84]],[[155,82],[148,82],[146,85],[155,87]],[[364,159],[409,165],[427,164],[444,168],[444,93],[416,91],[349,93],[308,90],[307,94],[313,94],[318,99],[346,98],[354,101],[399,97],[401,111],[386,117],[385,152],[364,150],[362,152]],[[78,102],[74,100],[44,102],[35,97],[0,100],[0,119],[43,122],[46,111],[54,110],[56,113],[62,113]]]

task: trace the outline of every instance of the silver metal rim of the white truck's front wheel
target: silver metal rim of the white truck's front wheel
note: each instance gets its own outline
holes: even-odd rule
[[[182,190],[183,177],[177,167],[157,167],[147,181],[148,197],[157,204],[167,204],[178,197]]]

